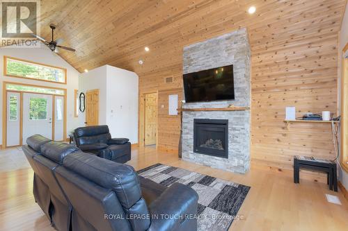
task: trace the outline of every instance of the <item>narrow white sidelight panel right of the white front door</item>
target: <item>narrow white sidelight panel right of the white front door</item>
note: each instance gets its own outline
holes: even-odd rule
[[[54,140],[63,141],[64,135],[64,97],[54,96]]]

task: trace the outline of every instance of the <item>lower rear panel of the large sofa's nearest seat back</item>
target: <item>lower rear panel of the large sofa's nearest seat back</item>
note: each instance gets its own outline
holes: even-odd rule
[[[114,191],[105,189],[64,166],[59,166],[55,172],[74,208],[72,230],[132,230]]]

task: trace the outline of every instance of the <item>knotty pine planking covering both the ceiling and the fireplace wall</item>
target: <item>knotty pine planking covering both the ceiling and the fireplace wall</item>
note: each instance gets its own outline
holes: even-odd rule
[[[166,92],[182,94],[183,46],[246,27],[252,51],[253,160],[289,166],[296,154],[334,155],[326,124],[287,130],[283,117],[287,105],[299,114],[336,111],[337,42],[345,3],[42,0],[41,35],[49,39],[48,25],[56,22],[57,37],[77,49],[60,53],[73,67],[83,71],[108,64],[135,71],[140,91],[159,90],[159,103],[166,105]],[[249,6],[256,7],[254,15],[247,13]],[[166,77],[173,83],[166,84]],[[180,118],[168,117],[166,110],[159,108],[159,146],[176,149]]]

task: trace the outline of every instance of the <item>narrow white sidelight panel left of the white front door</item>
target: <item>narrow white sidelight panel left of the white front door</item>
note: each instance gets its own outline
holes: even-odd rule
[[[17,146],[20,132],[20,93],[7,92],[6,146]]]

